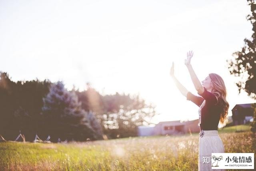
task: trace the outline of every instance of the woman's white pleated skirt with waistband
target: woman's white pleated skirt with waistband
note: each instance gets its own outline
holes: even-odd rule
[[[224,145],[217,130],[204,131],[204,135],[199,137],[198,171],[225,171],[225,169],[212,169],[212,153],[224,153]],[[210,157],[210,160],[206,157]]]

